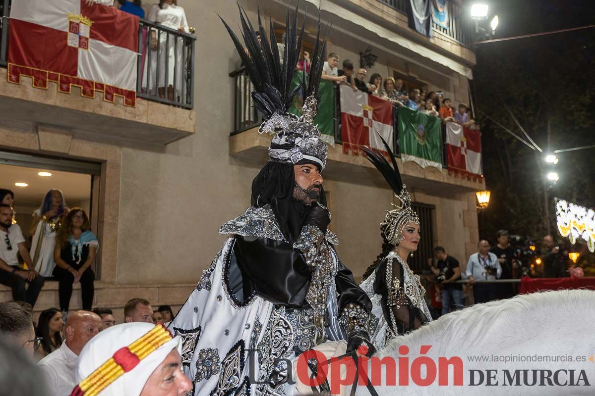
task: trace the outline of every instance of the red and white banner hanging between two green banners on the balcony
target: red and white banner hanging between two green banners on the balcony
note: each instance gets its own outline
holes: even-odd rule
[[[341,138],[343,153],[358,155],[359,147],[367,145],[384,151],[377,132],[389,147],[394,147],[393,104],[388,100],[355,91],[348,85],[340,86]]]

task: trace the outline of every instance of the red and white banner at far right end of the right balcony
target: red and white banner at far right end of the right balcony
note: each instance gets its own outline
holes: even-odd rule
[[[456,122],[446,123],[446,157],[449,173],[481,180],[481,133]]]

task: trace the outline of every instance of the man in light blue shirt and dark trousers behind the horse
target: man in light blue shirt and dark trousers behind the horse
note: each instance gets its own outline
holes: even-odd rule
[[[475,284],[475,281],[496,280],[502,276],[502,267],[496,255],[490,252],[490,243],[487,240],[480,240],[477,249],[477,253],[469,256],[465,271],[469,284],[473,285],[473,299],[476,304],[495,300],[497,296],[495,284]]]

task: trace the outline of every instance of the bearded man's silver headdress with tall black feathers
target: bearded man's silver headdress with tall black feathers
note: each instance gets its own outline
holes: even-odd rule
[[[260,9],[258,10],[258,34],[248,20],[246,11],[240,7],[240,21],[242,23],[242,37],[244,46],[228,24],[223,21],[228,33],[242,58],[246,72],[252,81],[254,92],[252,102],[256,109],[262,113],[264,122],[258,131],[274,134],[268,153],[271,160],[289,161],[296,164],[307,160],[324,169],[327,159],[327,146],[321,139],[320,131],[314,125],[316,116],[317,99],[316,91],[322,75],[324,65],[324,49],[328,35],[328,28],[320,40],[320,16],[318,18],[318,31],[312,51],[310,70],[306,78],[303,73],[301,84],[292,88],[293,75],[302,47],[302,37],[305,31],[305,18],[302,28],[297,34],[298,6],[295,8],[293,23],[290,23],[289,8],[287,9],[285,24],[285,39],[283,60],[280,59],[277,39],[270,21],[269,32],[262,26]],[[267,38],[270,37],[270,38]],[[304,98],[302,116],[299,118],[287,109],[292,105],[293,97],[301,90]]]

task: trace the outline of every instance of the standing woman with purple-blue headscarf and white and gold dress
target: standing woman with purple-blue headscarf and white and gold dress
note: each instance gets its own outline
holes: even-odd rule
[[[35,271],[42,277],[52,276],[56,266],[54,262],[56,229],[69,210],[64,202],[62,191],[52,189],[43,198],[39,209],[33,212],[33,223],[29,230],[29,233],[33,234],[33,242],[29,254],[33,258]]]

